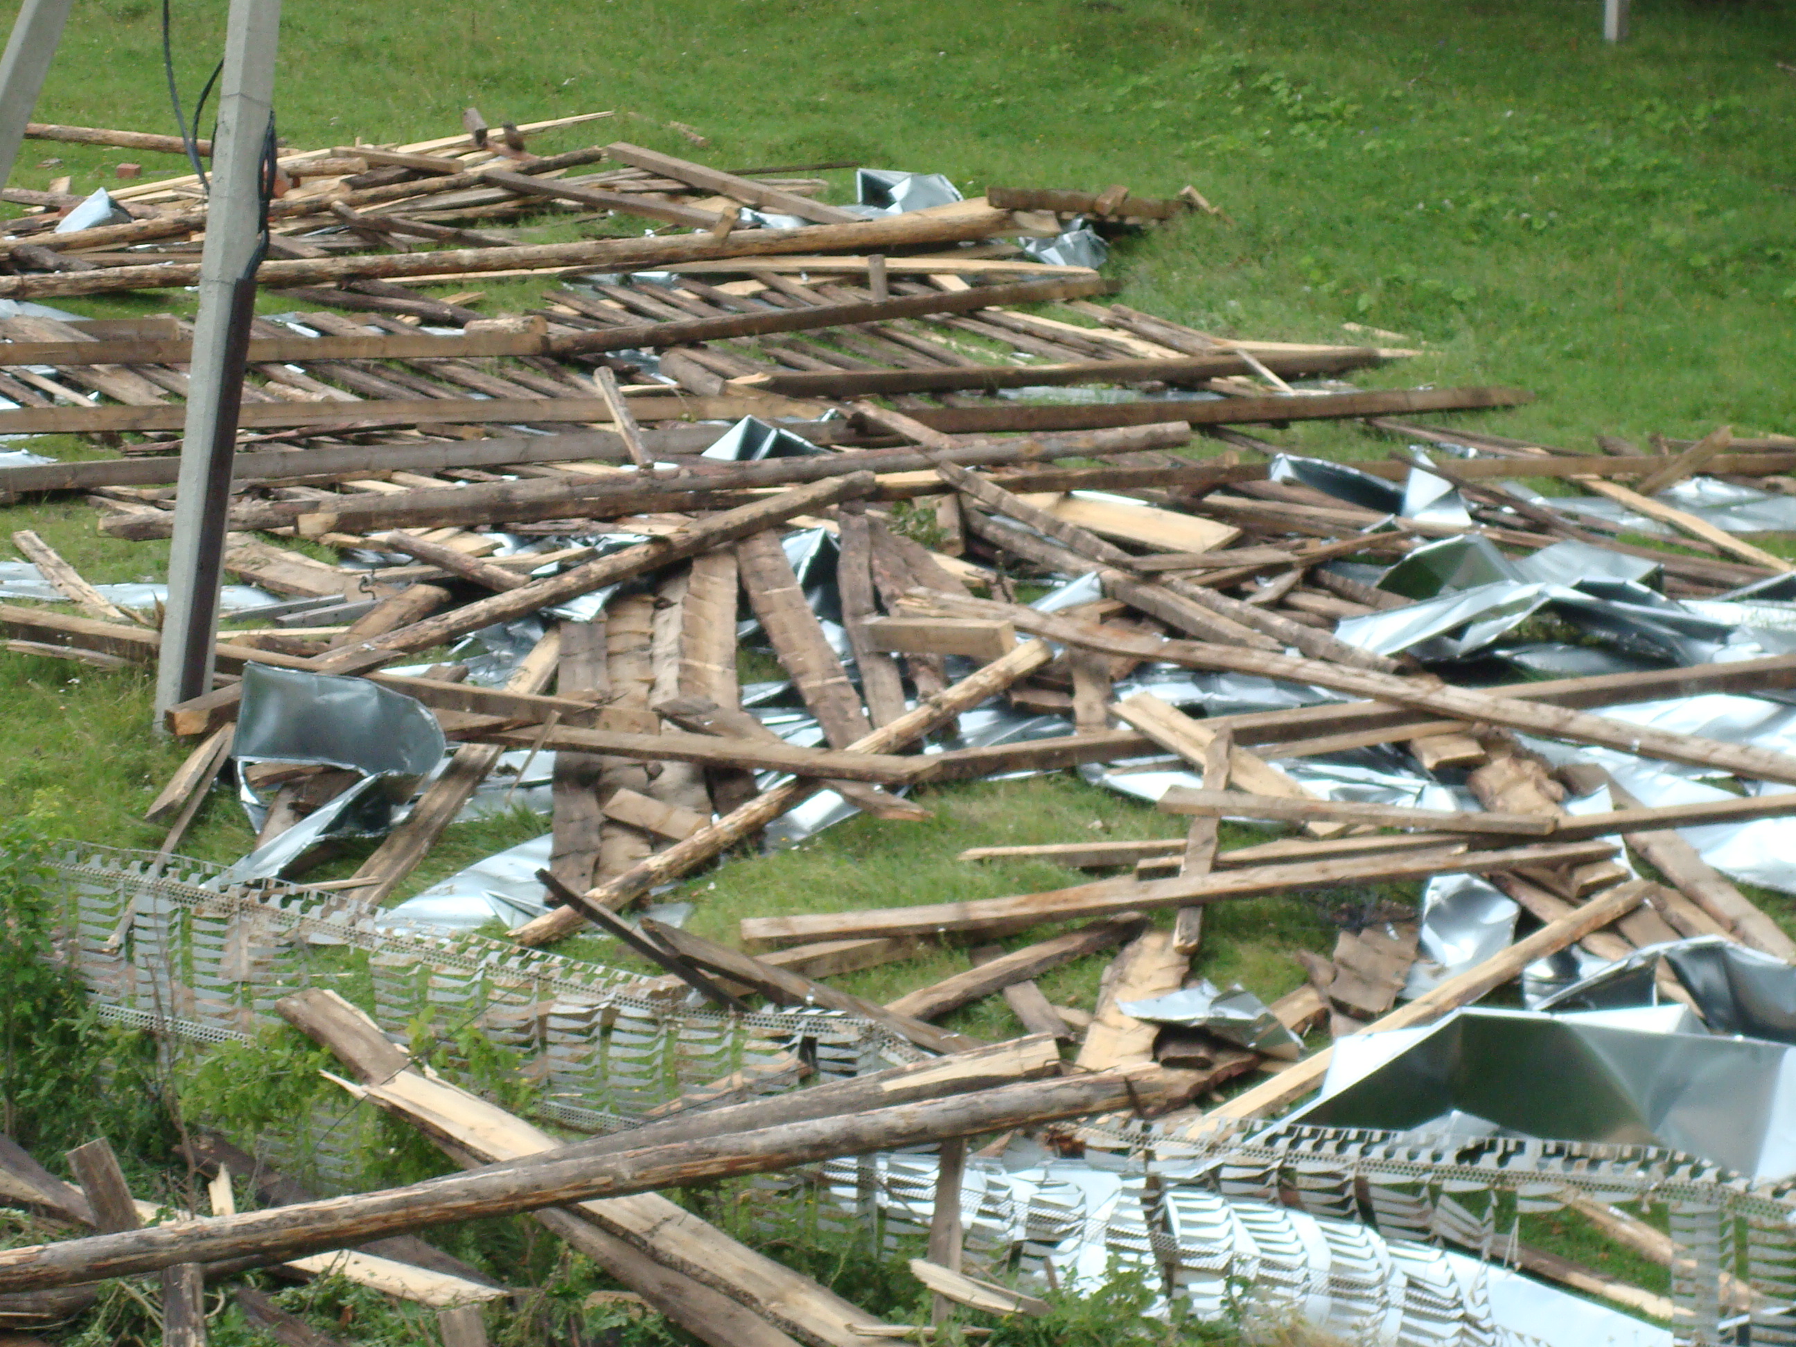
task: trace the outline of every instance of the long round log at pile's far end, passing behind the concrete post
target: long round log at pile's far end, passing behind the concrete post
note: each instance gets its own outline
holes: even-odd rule
[[[440,178],[433,185],[454,181]],[[408,183],[417,187],[417,183]],[[366,201],[368,198],[361,198]],[[347,205],[357,205],[350,199]],[[332,286],[356,278],[451,277],[481,271],[530,268],[569,268],[582,271],[641,271],[674,262],[704,259],[778,257],[812,251],[880,251],[923,242],[964,242],[1009,228],[1009,212],[991,210],[981,201],[964,201],[948,212],[911,210],[882,219],[806,226],[799,230],[740,230],[727,239],[686,233],[648,239],[591,239],[582,242],[524,244],[517,248],[453,248],[429,253],[361,253],[347,257],[293,259],[262,262],[257,284]],[[115,266],[99,271],[57,275],[0,277],[0,298],[29,300],[47,295],[99,295],[119,289],[165,289],[192,286],[199,278],[198,262],[160,262],[151,266]],[[1415,411],[1415,406],[1379,406],[1378,411]]]

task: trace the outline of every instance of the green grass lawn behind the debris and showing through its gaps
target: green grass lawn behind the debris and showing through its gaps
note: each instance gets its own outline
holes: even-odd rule
[[[1360,341],[1401,334],[1419,359],[1367,384],[1512,384],[1530,406],[1467,424],[1589,447],[1593,435],[1791,431],[1796,325],[1796,59],[1789,7],[1643,0],[1634,40],[1598,36],[1600,5],[1510,0],[451,0],[388,13],[291,5],[278,126],[296,149],[449,135],[600,108],[620,117],[544,136],[548,153],[627,138],[729,169],[857,160],[990,183],[1139,194],[1196,185],[1227,212],[1133,239],[1110,271],[1121,302],[1207,330]],[[198,90],[223,4],[176,9],[183,88]],[[77,9],[40,120],[172,131],[160,7]],[[709,138],[695,149],[677,119]],[[122,160],[172,156],[27,142],[13,185],[113,181]],[[830,174],[846,199],[850,174]],[[566,226],[555,226],[566,228]],[[541,237],[564,237],[548,230]],[[478,282],[474,282],[478,284]],[[494,282],[480,307],[535,304]],[[83,314],[190,311],[190,296],[57,302]],[[264,307],[286,307],[264,300]],[[1275,433],[1307,453],[1390,445],[1351,426]],[[56,442],[48,453],[102,451]],[[75,501],[7,510],[95,582],[160,578],[165,544],[95,533]],[[0,808],[36,806],[65,835],[154,846],[144,806],[183,756],[149,729],[149,679],[0,654],[7,751]],[[855,819],[779,857],[690,885],[699,930],[817,907],[977,898],[1078,882],[1052,866],[973,869],[966,846],[1171,835],[1178,821],[1072,776],[929,792],[925,824]],[[413,885],[541,830],[506,817],[451,830]],[[187,851],[228,860],[250,830],[217,796]],[[320,878],[347,875],[347,857]],[[1286,952],[1325,948],[1304,900],[1216,911],[1200,970],[1264,997],[1299,981]],[[611,955],[578,941],[573,950]],[[964,966],[943,954],[846,984],[889,997]],[[1099,961],[1051,973],[1054,1000],[1090,1004]],[[955,1027],[1013,1033],[1002,1004]]]

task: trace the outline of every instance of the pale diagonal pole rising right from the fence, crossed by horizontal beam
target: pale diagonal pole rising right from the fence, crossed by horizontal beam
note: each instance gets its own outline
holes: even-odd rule
[[[934,697],[921,699],[912,711],[907,711],[889,726],[880,726],[864,740],[850,747],[857,753],[889,753],[893,749],[900,749],[912,740],[932,733],[939,726],[961,715],[961,711],[968,711],[990,697],[999,695],[1018,679],[1027,677],[1036,668],[1045,665],[1051,657],[1052,656],[1047,645],[1040,641],[1020,645],[1011,654],[961,679],[952,688],[946,688]],[[772,790],[756,796],[742,808],[718,819],[709,828],[702,828],[693,833],[684,842],[675,842],[666,851],[648,857],[632,871],[612,876],[605,884],[596,885],[587,898],[616,911],[648,893],[657,884],[675,880],[722,855],[736,842],[753,837],[787,810],[808,799],[819,788],[819,783],[803,778],[776,785]],[[550,912],[548,916],[519,927],[512,932],[512,936],[523,945],[542,945],[578,929],[578,916],[568,912]]]

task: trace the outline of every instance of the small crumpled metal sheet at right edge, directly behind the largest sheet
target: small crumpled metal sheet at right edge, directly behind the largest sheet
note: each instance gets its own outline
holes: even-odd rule
[[[1660,1006],[1660,964],[1695,1000],[1710,1033],[1796,1045],[1796,968],[1722,936],[1649,945],[1536,1009]]]

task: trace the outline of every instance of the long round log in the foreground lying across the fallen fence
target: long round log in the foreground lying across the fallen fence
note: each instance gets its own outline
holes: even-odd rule
[[[850,1117],[645,1146],[609,1157],[487,1166],[348,1198],[11,1248],[0,1252],[0,1291],[135,1277],[178,1263],[217,1263],[246,1255],[284,1261],[449,1221],[769,1173],[839,1155],[866,1155],[1114,1110],[1158,1112],[1182,1101],[1202,1079],[1196,1072],[1140,1067],[1027,1081]]]

